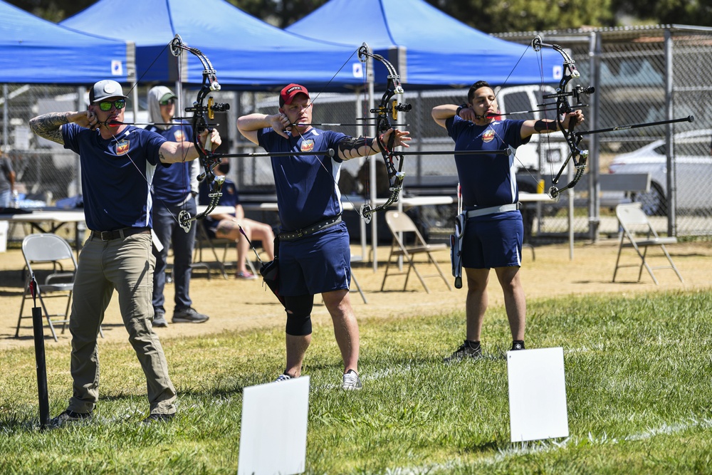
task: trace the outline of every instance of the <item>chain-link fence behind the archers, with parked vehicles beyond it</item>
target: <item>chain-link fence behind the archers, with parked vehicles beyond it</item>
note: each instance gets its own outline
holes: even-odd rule
[[[508,41],[529,43],[535,33],[499,35]],[[548,32],[544,41],[557,43],[577,61],[580,78],[572,84],[595,86],[586,99],[586,124],[581,130],[619,127],[614,132],[585,135],[582,147],[590,150],[587,174],[555,204],[531,204],[528,220],[531,234],[538,239],[566,239],[569,232],[584,239],[617,234],[613,207],[617,202],[637,200],[651,215],[658,216],[660,231],[679,236],[712,234],[712,195],[705,191],[712,175],[712,116],[708,111],[712,89],[712,28],[677,26],[620,28],[598,31]],[[447,72],[444,71],[443,74]],[[473,78],[478,80],[479,78]],[[127,107],[127,122],[145,119],[145,90],[142,103]],[[509,111],[530,110],[543,103],[540,85],[503,85],[498,90],[501,108]],[[402,103],[412,111],[401,114],[400,123],[412,134],[410,151],[443,150],[441,155],[406,157],[404,192],[410,194],[451,194],[456,192],[456,169],[447,151],[453,145],[444,129],[431,119],[431,109],[444,103],[460,104],[466,89],[415,90],[405,85]],[[315,104],[315,123],[346,124],[338,126],[348,135],[372,135],[369,127],[355,118],[370,117],[365,94],[319,93],[311,91]],[[226,113],[218,113],[216,122],[224,137],[224,152],[258,150],[239,136],[236,118],[251,112],[275,113],[277,93],[220,91],[216,101],[229,103]],[[377,94],[379,96],[379,94]],[[186,91],[184,97],[192,97]],[[81,100],[78,100],[81,98]],[[12,158],[20,189],[28,197],[53,204],[57,199],[80,192],[79,164],[73,152],[31,134],[28,120],[40,113],[78,110],[85,107],[83,91],[71,87],[42,85],[3,85],[0,106],[4,127],[0,142]],[[378,97],[375,99],[378,100]],[[550,113],[549,113],[550,114]],[[627,125],[658,122],[694,115],[695,121],[669,125],[630,128]],[[520,116],[515,116],[520,118]],[[540,118],[532,113],[524,118]],[[552,118],[553,115],[548,115]],[[329,128],[325,125],[322,128]],[[539,139],[539,137],[535,137]],[[520,189],[535,192],[541,180],[561,167],[567,146],[557,137],[533,140],[517,152]],[[363,160],[346,162],[340,186],[344,194],[363,194],[367,179],[359,177]],[[648,173],[651,183],[647,193],[600,192],[602,177],[614,174]],[[562,177],[562,182],[566,179]],[[273,194],[271,163],[265,157],[233,159],[231,178],[242,194]],[[624,175],[625,176],[625,175]],[[624,187],[623,187],[624,188]],[[575,205],[570,211],[571,200]],[[424,228],[449,233],[454,207],[422,210]]]

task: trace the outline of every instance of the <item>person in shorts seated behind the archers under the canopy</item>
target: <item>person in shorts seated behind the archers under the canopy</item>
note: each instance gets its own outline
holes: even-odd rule
[[[230,170],[229,159],[224,158],[220,165],[215,168],[216,176],[227,174]],[[204,182],[199,187],[199,203],[208,204],[208,189]],[[204,226],[211,238],[231,239],[236,242],[237,248],[237,268],[235,278],[253,279],[256,276],[247,270],[247,256],[250,252],[250,244],[240,232],[240,226],[245,231],[250,241],[262,241],[262,247],[267,254],[267,260],[274,259],[274,232],[268,224],[254,221],[245,217],[244,209],[240,204],[240,197],[234,182],[225,179],[222,186],[222,196],[218,202],[219,206],[235,207],[235,212],[231,214],[213,213],[206,216]]]

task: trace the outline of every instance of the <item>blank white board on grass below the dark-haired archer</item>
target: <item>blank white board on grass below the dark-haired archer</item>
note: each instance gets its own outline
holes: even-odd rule
[[[512,442],[568,437],[563,348],[507,352]]]

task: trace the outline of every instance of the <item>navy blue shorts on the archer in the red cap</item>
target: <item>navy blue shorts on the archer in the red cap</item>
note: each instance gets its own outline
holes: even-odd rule
[[[351,247],[346,224],[293,241],[279,241],[279,293],[315,295],[351,286]]]

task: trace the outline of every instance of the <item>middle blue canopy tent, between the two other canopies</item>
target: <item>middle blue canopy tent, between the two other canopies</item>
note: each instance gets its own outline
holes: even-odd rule
[[[201,83],[203,68],[189,54],[187,73],[177,77],[167,48],[176,34],[209,58],[219,82],[229,88],[265,90],[299,82],[338,90],[363,81],[354,73],[360,69],[348,66],[359,63],[360,42],[344,46],[302,38],[224,0],[201,0],[199,8],[194,0],[124,0],[122,21],[107,28],[106,19],[115,17],[116,9],[115,1],[99,0],[61,25],[134,41],[138,82]]]

